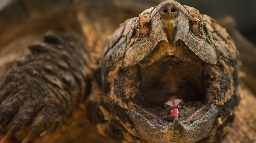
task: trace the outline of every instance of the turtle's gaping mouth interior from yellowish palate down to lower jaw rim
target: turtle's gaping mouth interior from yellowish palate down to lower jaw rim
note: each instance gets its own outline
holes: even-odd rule
[[[159,42],[138,63],[143,77],[140,114],[167,126],[175,119],[166,116],[177,108],[180,123],[189,125],[211,109],[212,98],[206,95],[204,85],[207,82],[205,67],[211,64],[196,56],[181,40],[173,47],[165,45],[167,42]],[[159,54],[163,48],[166,51]],[[155,58],[156,53],[158,58]]]

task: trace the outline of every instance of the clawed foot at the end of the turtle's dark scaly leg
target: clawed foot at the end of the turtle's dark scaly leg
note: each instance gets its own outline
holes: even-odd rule
[[[11,82],[1,86],[0,124],[8,131],[1,140],[5,142],[18,130],[31,128],[22,143],[29,142],[49,126],[56,126],[65,114],[67,105],[58,99],[54,87],[13,70],[8,73]],[[8,79],[7,79],[8,80]],[[20,83],[23,81],[23,83]]]

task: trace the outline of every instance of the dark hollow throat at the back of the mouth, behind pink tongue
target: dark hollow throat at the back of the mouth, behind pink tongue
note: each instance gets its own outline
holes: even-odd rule
[[[204,100],[199,67],[174,56],[163,57],[155,64],[163,68],[143,91],[142,107],[164,107],[165,102],[174,98],[184,102]]]

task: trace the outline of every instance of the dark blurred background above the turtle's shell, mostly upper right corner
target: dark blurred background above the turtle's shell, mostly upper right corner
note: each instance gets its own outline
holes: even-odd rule
[[[6,5],[19,0],[1,0],[0,9]],[[72,0],[52,0],[53,3],[58,1]],[[75,1],[75,0],[74,0]],[[123,1],[123,0],[121,0]],[[237,29],[248,38],[252,43],[256,43],[256,1],[255,0],[177,0],[180,4],[192,6],[200,13],[209,15],[214,18],[231,16],[237,23]],[[47,2],[47,1],[45,1]],[[151,7],[152,3],[148,3]],[[137,15],[136,15],[137,16]]]

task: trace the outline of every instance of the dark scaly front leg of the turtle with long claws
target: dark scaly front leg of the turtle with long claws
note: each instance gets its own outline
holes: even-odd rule
[[[2,142],[29,128],[22,143],[39,133],[51,132],[90,88],[89,48],[77,36],[47,33],[44,42],[32,43],[30,55],[17,61],[1,84]]]

